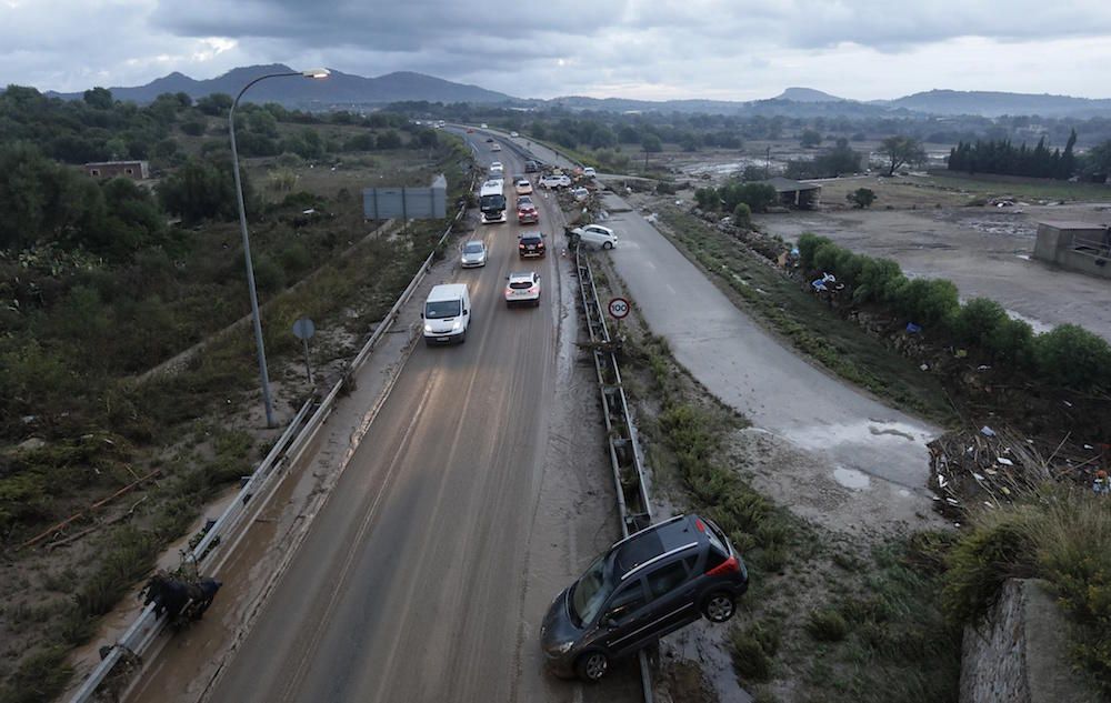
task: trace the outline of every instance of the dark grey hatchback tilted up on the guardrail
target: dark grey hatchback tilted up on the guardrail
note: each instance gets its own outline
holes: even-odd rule
[[[552,602],[540,629],[548,667],[598,681],[610,662],[704,616],[733,616],[749,587],[741,555],[698,515],[632,534],[594,560]]]

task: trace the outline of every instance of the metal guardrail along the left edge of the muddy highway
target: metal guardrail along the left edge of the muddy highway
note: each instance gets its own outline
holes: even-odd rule
[[[471,178],[470,189],[474,190],[474,178]],[[251,501],[251,499],[259,493],[264,491],[273,491],[278,488],[280,483],[279,479],[287,475],[287,472],[281,471],[283,468],[289,465],[291,462],[288,460],[290,458],[296,458],[299,455],[302,449],[304,449],[309,442],[316,436],[317,432],[323,424],[324,420],[331,414],[334,409],[336,399],[339,396],[343,389],[343,385],[349,382],[349,379],[362,368],[367,359],[370,356],[374,347],[386,334],[387,330],[397,320],[401,308],[409,302],[412,298],[413,292],[417,287],[420,285],[421,281],[428,274],[429,270],[432,268],[432,262],[436,260],[437,253],[443,247],[443,243],[448,240],[448,235],[451,234],[452,228],[456,223],[463,217],[467,211],[467,205],[461,204],[456,215],[444,228],[443,233],[437,241],[436,247],[429,253],[424,262],[421,263],[420,269],[417,270],[416,275],[409,282],[409,285],[398,298],[390,311],[386,313],[386,317],[379,323],[378,328],[370,335],[367,342],[356,354],[354,359],[348,364],[342,376],[332,385],[329,392],[320,400],[319,403],[316,402],[316,396],[310,398],[301,405],[301,409],[297,412],[293,419],[290,421],[289,425],[282,432],[281,436],[267,453],[267,456],[258,465],[258,468],[251,473],[251,476],[240,489],[239,494],[236,500],[228,505],[223,513],[217,519],[212,526],[204,533],[197,546],[194,546],[188,554],[182,559],[182,563],[196,564],[198,569],[211,564],[212,559],[218,553],[218,549],[221,543],[231,543],[233,541],[227,540],[227,538],[234,534],[236,530],[244,524],[244,515],[248,514],[248,508],[251,508],[250,513],[257,514],[259,510],[264,505],[266,501]],[[306,418],[309,415],[309,411],[316,405],[316,411],[309,416],[308,421]],[[251,521],[246,521],[249,524]],[[136,662],[141,661],[142,654],[150,647],[154,639],[162,632],[169,617],[167,614],[158,616],[154,614],[154,604],[148,604],[131,625],[123,632],[122,635],[117,639],[117,641],[111,645],[109,651],[102,656],[100,663],[96,669],[90,672],[90,674],[81,682],[81,686],[77,690],[73,696],[70,699],[70,703],[87,703],[92,701],[97,693],[97,689],[111,675],[112,670],[121,662],[129,661]]]

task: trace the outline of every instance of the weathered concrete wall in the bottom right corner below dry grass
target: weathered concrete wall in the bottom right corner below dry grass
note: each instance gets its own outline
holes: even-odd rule
[[[964,630],[960,703],[1098,703],[1070,669],[1068,627],[1042,582],[1008,581],[987,622]]]

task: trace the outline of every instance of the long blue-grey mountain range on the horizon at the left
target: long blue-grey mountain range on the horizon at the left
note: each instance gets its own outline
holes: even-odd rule
[[[232,69],[223,76],[208,80],[194,80],[173,72],[154,79],[146,86],[133,88],[111,88],[118,100],[138,103],[151,102],[166,92],[184,92],[192,98],[211,93],[234,96],[243,86],[259,76],[281,73],[293,69],[281,63],[249,66]],[[82,93],[48,93],[60,98],[78,99]],[[510,96],[478,86],[453,83],[423,73],[409,71],[387,73],[378,78],[363,78],[332,70],[323,80],[287,78],[263,81],[251,89],[244,98],[252,102],[279,102],[287,107],[326,107],[342,104],[380,104],[401,100],[428,100],[429,102],[474,102],[491,103],[513,100]]]

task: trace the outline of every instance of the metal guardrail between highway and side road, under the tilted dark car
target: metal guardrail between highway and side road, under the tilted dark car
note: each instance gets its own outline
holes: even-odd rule
[[[587,330],[590,333],[598,389],[602,398],[602,418],[605,420],[610,466],[613,470],[613,485],[617,489],[618,511],[621,515],[621,536],[627,538],[652,524],[644,463],[637,442],[637,429],[633,426],[621,383],[621,370],[613,353],[614,341],[610,337],[602,308],[598,302],[598,289],[594,287],[590,260],[582,255],[578,247],[574,250],[574,265],[579,273],[579,293],[582,299],[583,315],[587,319]],[[644,650],[638,653],[638,659],[644,703],[652,703],[652,676]]]

